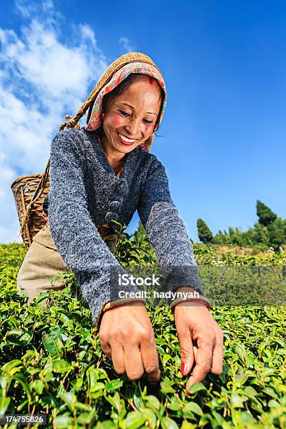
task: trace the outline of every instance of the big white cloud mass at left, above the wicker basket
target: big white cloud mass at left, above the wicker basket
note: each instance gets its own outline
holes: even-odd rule
[[[76,114],[107,67],[93,29],[68,25],[53,1],[18,0],[15,12],[20,31],[0,27],[0,243],[21,241],[11,182],[43,172],[64,114]]]

